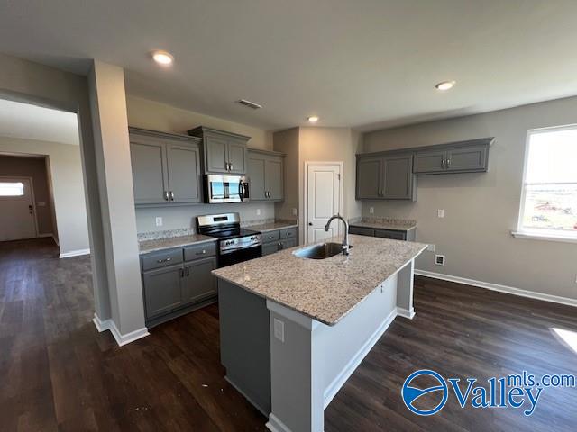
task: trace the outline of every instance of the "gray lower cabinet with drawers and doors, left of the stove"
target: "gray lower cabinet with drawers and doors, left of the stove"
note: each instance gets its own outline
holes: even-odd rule
[[[141,266],[147,327],[216,300],[214,243],[146,254]]]

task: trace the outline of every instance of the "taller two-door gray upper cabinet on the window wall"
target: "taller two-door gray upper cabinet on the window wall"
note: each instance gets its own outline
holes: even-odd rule
[[[358,200],[414,200],[413,154],[357,157]]]

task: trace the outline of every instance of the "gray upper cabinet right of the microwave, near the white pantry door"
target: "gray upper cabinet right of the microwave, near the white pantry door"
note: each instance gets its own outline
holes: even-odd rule
[[[247,174],[251,182],[251,201],[284,199],[282,153],[249,148]]]

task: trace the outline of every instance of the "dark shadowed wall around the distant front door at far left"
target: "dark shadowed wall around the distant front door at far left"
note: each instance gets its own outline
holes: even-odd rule
[[[4,175],[32,177],[38,234],[53,234],[55,232],[52,225],[53,204],[46,171],[46,158],[0,155],[0,177]]]

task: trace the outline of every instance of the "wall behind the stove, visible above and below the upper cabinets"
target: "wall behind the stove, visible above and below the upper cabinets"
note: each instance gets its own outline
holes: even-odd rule
[[[198,112],[181,110],[165,103],[134,96],[128,96],[126,103],[128,123],[133,127],[186,134],[187,130],[203,125],[247,135],[251,137],[249,140],[249,147],[251,148],[272,149],[272,135],[266,130]],[[260,215],[257,214],[258,210],[261,211]],[[181,207],[136,209],[136,226],[139,233],[164,229],[194,228],[194,218],[197,215],[227,211],[238,211],[241,214],[241,220],[271,219],[274,218],[274,203],[195,204]],[[156,226],[157,216],[162,217],[162,227]]]

